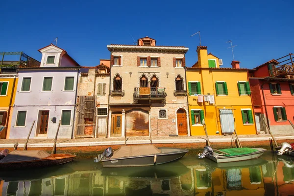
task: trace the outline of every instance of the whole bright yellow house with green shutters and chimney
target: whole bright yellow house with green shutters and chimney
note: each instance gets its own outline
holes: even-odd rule
[[[220,68],[221,59],[197,47],[198,61],[186,68],[191,135],[256,134],[248,70],[232,61]],[[222,64],[222,62],[221,62]]]

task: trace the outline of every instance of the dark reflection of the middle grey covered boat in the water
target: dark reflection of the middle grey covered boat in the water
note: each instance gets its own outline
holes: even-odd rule
[[[130,178],[169,178],[189,172],[180,162],[167,163],[164,165],[132,167],[132,168],[101,168],[101,176],[116,176]]]

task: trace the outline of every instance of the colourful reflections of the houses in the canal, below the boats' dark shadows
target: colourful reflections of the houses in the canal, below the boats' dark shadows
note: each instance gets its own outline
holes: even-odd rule
[[[103,176],[99,170],[75,171],[30,181],[1,181],[0,193],[10,196],[278,196],[292,193],[293,165],[293,161],[284,160],[234,168],[191,165],[179,176],[163,178]]]

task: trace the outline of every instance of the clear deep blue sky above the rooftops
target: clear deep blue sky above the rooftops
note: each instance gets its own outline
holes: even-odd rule
[[[291,0],[5,0],[0,3],[0,51],[24,51],[41,60],[43,48],[57,46],[83,66],[110,58],[109,44],[133,44],[145,36],[157,45],[185,46],[186,64],[197,61],[196,47],[241,67],[254,68],[294,52],[294,3]],[[133,37],[133,38],[132,38]]]

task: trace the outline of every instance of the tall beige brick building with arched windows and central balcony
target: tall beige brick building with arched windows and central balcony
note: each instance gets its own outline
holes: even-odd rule
[[[186,97],[188,48],[107,46],[111,52],[108,137],[190,135]]]

